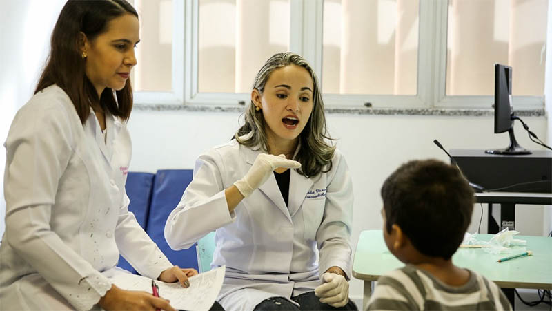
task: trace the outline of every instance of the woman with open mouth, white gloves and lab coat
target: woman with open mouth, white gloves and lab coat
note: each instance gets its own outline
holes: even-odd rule
[[[255,78],[235,140],[199,156],[165,237],[185,249],[216,230],[211,265],[226,265],[226,310],[355,310],[353,185],[328,140],[313,69],[277,53]]]

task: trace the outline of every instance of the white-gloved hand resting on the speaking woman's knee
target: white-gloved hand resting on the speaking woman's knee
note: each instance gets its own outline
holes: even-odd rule
[[[315,288],[315,295],[321,303],[339,308],[349,302],[349,283],[344,276],[326,272],[322,274],[322,281],[324,283]]]

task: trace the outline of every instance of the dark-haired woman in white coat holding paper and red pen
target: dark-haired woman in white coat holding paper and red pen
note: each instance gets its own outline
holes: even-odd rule
[[[110,276],[119,254],[152,279],[188,286],[128,211],[126,120],[137,12],[125,0],[68,0],[46,68],[6,140],[1,310],[173,310]]]

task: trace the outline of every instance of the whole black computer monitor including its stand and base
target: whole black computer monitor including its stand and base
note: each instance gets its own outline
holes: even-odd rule
[[[486,150],[493,154],[531,154],[517,144],[513,134],[512,68],[495,64],[495,133],[508,131],[510,144],[506,149]]]

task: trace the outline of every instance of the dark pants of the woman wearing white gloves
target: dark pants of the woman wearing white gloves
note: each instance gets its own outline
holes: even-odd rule
[[[293,303],[290,303],[288,299],[285,299],[284,297],[270,297],[269,299],[265,299],[262,303],[259,303],[255,307],[255,311],[279,311],[279,310],[286,310],[286,311],[307,311],[307,310],[355,310],[357,311],[358,308],[353,303],[353,301],[349,300],[349,302],[344,305],[341,308],[334,308],[331,305],[328,305],[327,303],[321,303],[319,298],[315,296],[315,292],[306,292],[304,294],[300,294],[299,296],[292,297],[291,300],[295,301],[296,303],[299,303],[299,307],[297,305],[294,305]]]

